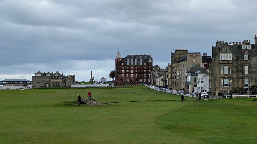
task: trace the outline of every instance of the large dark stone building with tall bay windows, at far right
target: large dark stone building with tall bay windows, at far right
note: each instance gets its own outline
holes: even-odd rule
[[[212,47],[209,66],[209,90],[212,94],[231,94],[237,88],[249,88],[257,82],[257,37],[254,44],[243,42],[216,42]]]

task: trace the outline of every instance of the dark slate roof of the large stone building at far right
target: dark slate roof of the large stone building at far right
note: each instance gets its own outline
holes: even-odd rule
[[[228,48],[232,50],[236,57],[244,57],[244,49],[242,49],[242,45],[227,45]],[[223,48],[223,46],[219,46],[219,51]],[[216,52],[217,48],[212,48],[212,57],[217,56]],[[254,44],[251,44],[251,49],[249,49],[249,57],[257,57],[257,51]]]

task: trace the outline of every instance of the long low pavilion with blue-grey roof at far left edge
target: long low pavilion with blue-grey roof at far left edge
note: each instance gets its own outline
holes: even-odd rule
[[[5,79],[0,81],[0,85],[3,86],[20,86],[20,85],[31,85],[31,81],[26,79]]]

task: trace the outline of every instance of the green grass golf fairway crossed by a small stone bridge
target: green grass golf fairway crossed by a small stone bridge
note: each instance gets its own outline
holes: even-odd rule
[[[72,103],[88,90],[106,104]],[[181,103],[145,86],[0,91],[0,143],[257,143],[252,99]]]

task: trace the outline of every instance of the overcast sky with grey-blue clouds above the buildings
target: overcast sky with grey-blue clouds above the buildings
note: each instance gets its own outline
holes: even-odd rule
[[[115,57],[150,54],[165,68],[170,52],[208,53],[216,40],[257,34],[257,1],[0,0],[0,80],[38,72],[89,81],[115,69]]]

